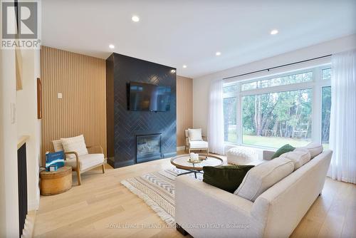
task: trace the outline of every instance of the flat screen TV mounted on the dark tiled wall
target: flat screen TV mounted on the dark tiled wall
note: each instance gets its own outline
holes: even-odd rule
[[[129,110],[170,110],[171,88],[150,83],[130,82]]]

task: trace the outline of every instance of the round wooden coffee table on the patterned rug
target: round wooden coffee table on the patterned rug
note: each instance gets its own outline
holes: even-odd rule
[[[179,175],[187,175],[189,173],[194,172],[195,177],[197,177],[197,172],[201,173],[204,166],[219,166],[223,164],[223,160],[214,155],[205,155],[199,154],[199,162],[189,162],[190,156],[186,155],[178,155],[176,157],[172,157],[171,164],[177,167],[178,169],[188,170],[188,172],[183,172]],[[179,176],[177,175],[177,176]]]

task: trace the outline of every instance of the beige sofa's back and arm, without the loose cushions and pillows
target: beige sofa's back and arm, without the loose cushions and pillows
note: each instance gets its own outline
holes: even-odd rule
[[[332,153],[325,150],[255,202],[187,175],[179,176],[177,229],[193,237],[288,237],[323,190]],[[269,154],[266,152],[266,157]]]

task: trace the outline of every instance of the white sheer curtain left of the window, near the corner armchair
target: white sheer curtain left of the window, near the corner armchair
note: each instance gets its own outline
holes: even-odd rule
[[[209,151],[224,155],[223,81],[212,81],[209,94]]]

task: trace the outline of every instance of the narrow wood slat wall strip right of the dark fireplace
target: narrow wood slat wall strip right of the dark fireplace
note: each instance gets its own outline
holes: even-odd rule
[[[177,146],[185,145],[184,130],[193,126],[193,80],[177,76]]]

